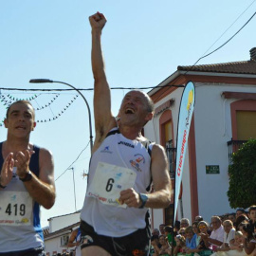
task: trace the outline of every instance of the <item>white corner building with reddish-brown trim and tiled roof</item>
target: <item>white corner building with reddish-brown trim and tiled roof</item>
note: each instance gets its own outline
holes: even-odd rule
[[[195,107],[186,153],[177,218],[222,215],[229,207],[230,155],[256,137],[256,48],[250,60],[225,64],[178,66],[148,94],[155,102],[155,118],[144,134],[167,150],[174,188],[174,152],[179,103],[183,87],[195,85]],[[173,223],[173,205],[152,210],[153,227]]]

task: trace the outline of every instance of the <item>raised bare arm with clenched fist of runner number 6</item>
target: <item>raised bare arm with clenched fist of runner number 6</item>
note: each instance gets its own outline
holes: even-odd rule
[[[92,71],[94,76],[94,118],[96,138],[93,151],[101,145],[102,139],[115,125],[111,113],[110,89],[104,70],[101,50],[101,32],[106,24],[106,18],[100,12],[89,17],[92,27]]]

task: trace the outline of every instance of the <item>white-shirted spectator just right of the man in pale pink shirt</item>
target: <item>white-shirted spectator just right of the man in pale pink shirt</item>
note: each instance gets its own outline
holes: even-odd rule
[[[223,222],[224,237],[223,244],[216,248],[216,251],[227,251],[230,249],[229,245],[234,243],[235,229],[233,228],[233,223],[230,220]]]

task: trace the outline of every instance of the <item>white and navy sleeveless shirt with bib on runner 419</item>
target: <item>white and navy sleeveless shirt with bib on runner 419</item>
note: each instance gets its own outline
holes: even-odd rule
[[[3,142],[0,143],[1,169],[4,163],[2,145]],[[31,155],[29,170],[38,177],[40,148],[34,145],[33,151],[35,153]],[[0,191],[0,202],[0,252],[44,246],[40,206],[28,194],[18,175],[13,174],[8,186]]]

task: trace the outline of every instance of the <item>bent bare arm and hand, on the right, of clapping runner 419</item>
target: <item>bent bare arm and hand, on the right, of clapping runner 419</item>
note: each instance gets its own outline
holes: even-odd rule
[[[16,156],[17,174],[24,178],[29,171],[30,154],[28,151],[19,152]],[[54,166],[49,151],[41,148],[39,153],[39,177],[32,174],[32,179],[24,185],[30,196],[46,209],[50,209],[55,202]]]

